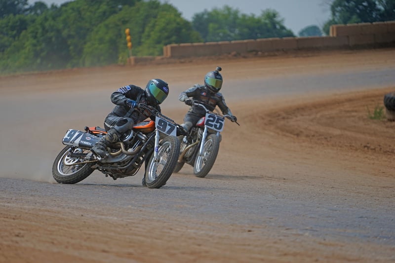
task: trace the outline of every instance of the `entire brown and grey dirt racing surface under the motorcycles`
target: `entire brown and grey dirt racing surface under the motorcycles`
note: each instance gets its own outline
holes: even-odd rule
[[[240,126],[206,178],[52,179],[66,130],[103,126],[113,91],[163,78],[182,123],[179,93],[216,66]],[[395,49],[0,77],[0,262],[395,262],[394,90]]]

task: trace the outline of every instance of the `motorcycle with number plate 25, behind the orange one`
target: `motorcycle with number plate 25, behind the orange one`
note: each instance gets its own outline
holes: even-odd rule
[[[215,109],[216,112],[211,112],[197,101],[193,101],[193,105],[203,108],[206,115],[197,121],[188,135],[183,136],[174,173],[178,173],[184,164],[188,163],[194,167],[195,176],[203,178],[214,165],[222,139],[221,132],[224,129],[225,118],[230,118],[231,115],[221,115],[217,109]],[[237,123],[237,125],[240,124]]]

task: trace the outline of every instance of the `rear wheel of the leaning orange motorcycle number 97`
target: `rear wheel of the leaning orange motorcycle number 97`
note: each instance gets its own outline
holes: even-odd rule
[[[72,163],[73,161],[77,162],[77,158],[68,157],[71,146],[66,146],[61,150],[56,156],[55,161],[52,165],[52,176],[56,182],[62,184],[77,184],[78,182],[84,180],[88,177],[94,169],[91,168],[92,163],[87,163],[84,165],[76,164],[76,165],[65,165],[65,161]],[[82,149],[78,149],[79,151],[83,151]],[[70,169],[70,171],[68,171]],[[70,173],[69,173],[70,172]]]

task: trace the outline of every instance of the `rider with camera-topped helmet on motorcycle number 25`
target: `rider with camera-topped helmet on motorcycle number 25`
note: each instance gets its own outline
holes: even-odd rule
[[[219,73],[221,70],[221,67],[217,67],[215,71],[208,72],[204,77],[204,85],[195,84],[193,87],[181,92],[178,97],[180,101],[192,106],[184,117],[184,123],[181,124],[186,130],[189,131],[194,127],[197,121],[206,114],[201,107],[192,105],[194,100],[204,104],[210,111],[213,111],[218,106],[223,114],[231,115],[231,121],[237,121],[237,117],[231,113],[231,110],[226,105],[224,96],[219,92],[223,82],[223,77]]]

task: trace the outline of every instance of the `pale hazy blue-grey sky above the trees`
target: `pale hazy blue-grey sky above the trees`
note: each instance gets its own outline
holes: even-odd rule
[[[47,5],[52,3],[60,5],[70,0],[41,0]],[[303,28],[316,25],[322,28],[322,25],[330,17],[330,8],[328,0],[159,0],[160,2],[170,3],[176,7],[182,16],[192,21],[196,13],[211,10],[214,7],[222,8],[229,5],[237,8],[243,14],[260,15],[262,10],[275,9],[281,18],[284,19],[284,26],[295,35]],[[30,4],[36,0],[29,0]]]

